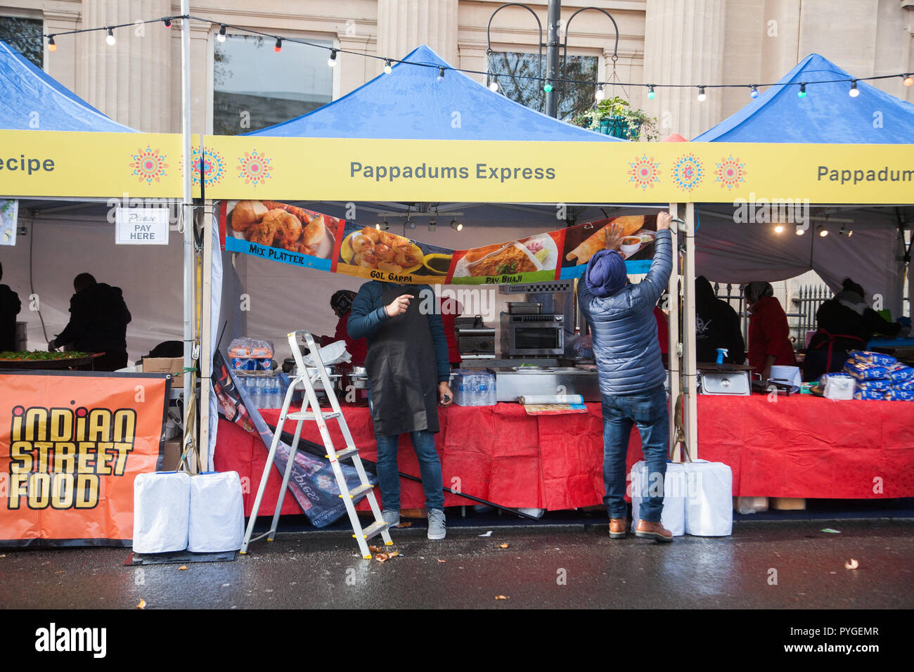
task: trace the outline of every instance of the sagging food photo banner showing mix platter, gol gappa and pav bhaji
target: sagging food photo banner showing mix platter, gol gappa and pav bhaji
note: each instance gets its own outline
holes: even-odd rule
[[[648,272],[656,215],[599,219],[494,245],[451,250],[271,200],[227,201],[219,209],[225,250],[388,283],[513,284],[578,278],[607,229],[621,227],[630,273]]]

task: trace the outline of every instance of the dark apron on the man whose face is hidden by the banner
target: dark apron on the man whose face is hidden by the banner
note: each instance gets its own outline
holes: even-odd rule
[[[419,312],[419,287],[382,285],[383,305],[402,294],[414,298],[406,313],[389,318],[368,343],[365,368],[375,433],[438,432],[438,368],[428,316]]]

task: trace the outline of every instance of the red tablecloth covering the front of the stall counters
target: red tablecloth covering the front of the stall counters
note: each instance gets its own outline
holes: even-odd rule
[[[518,404],[452,406],[440,412],[436,447],[444,485],[506,507],[549,510],[600,504],[602,421],[600,404],[587,413],[529,416]],[[903,401],[830,401],[808,395],[699,396],[698,456],[733,469],[733,494],[741,496],[879,498],[914,496],[914,404]],[[274,424],[278,410],[261,411]],[[344,407],[363,458],[377,449],[367,408]],[[328,421],[343,445],[336,421]],[[286,431],[294,424],[287,422]],[[321,443],[313,422],[303,437]],[[338,443],[337,443],[338,442]],[[400,437],[399,469],[419,475],[409,436]],[[642,458],[632,432],[628,464]],[[238,471],[250,514],[267,450],[260,439],[219,421],[214,460],[219,471]],[[273,469],[261,515],[273,512],[281,484]],[[419,508],[419,483],[401,479],[401,506]],[[445,496],[446,506],[470,504]],[[365,504],[364,502],[362,503]],[[291,496],[282,513],[301,513]]]

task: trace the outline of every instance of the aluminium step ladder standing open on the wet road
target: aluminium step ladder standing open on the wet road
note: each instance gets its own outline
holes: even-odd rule
[[[299,335],[302,335],[304,344],[308,347],[311,355],[313,364],[310,367],[306,366],[304,363],[302,348],[299,346],[298,341]],[[336,485],[339,486],[340,490],[339,496],[343,499],[346,513],[349,514],[349,521],[352,523],[352,528],[355,532],[353,537],[355,537],[356,542],[358,542],[358,549],[362,551],[362,558],[371,560],[371,551],[368,550],[367,545],[368,539],[372,539],[380,534],[381,538],[384,539],[385,545],[390,546],[393,544],[393,541],[390,539],[388,524],[384,522],[384,519],[381,517],[380,508],[377,506],[374,486],[368,483],[365,467],[359,459],[356,443],[352,440],[352,434],[349,432],[349,426],[346,424],[345,418],[343,417],[343,411],[340,409],[339,401],[336,400],[336,393],[327,376],[327,369],[324,368],[324,362],[321,360],[321,356],[318,353],[320,348],[314,343],[314,336],[304,330],[293,331],[292,334],[289,334],[289,345],[292,347],[292,355],[295,357],[295,365],[298,373],[292,379],[289,389],[286,390],[285,400],[282,402],[280,419],[276,423],[276,431],[273,432],[270,455],[267,457],[267,464],[264,466],[263,475],[260,477],[260,487],[257,490],[257,498],[254,499],[254,508],[250,512],[250,520],[248,522],[248,528],[244,533],[244,543],[241,544],[240,552],[242,554],[247,553],[251,541],[256,541],[263,537],[266,537],[268,541],[272,541],[275,538],[276,527],[279,525],[280,520],[282,500],[285,499],[286,489],[289,486],[289,478],[292,475],[292,464],[295,464],[295,454],[298,451],[298,442],[302,435],[302,424],[304,421],[316,421],[317,428],[320,430],[321,437],[324,439],[324,447],[327,450],[324,457],[330,460],[330,464],[333,467],[334,475],[336,476]],[[329,412],[324,412],[321,409],[321,405],[317,401],[317,395],[314,393],[314,382],[318,379],[324,384],[324,392],[327,395],[327,400],[330,401],[331,411]],[[304,389],[306,403],[302,404],[301,411],[289,412],[289,406],[292,403],[292,395],[296,389]],[[330,438],[330,432],[327,430],[326,421],[330,419],[335,419],[339,422],[340,432],[342,432],[345,440],[345,448],[341,451],[335,449],[333,440]],[[267,480],[271,474],[273,460],[276,457],[276,449],[279,446],[280,437],[282,436],[282,429],[287,420],[298,421],[298,424],[295,428],[295,439],[292,441],[292,450],[289,452],[289,461],[286,463],[285,473],[282,475],[282,487],[280,488],[279,499],[276,501],[276,511],[273,514],[273,522],[269,531],[251,539],[251,534],[254,531],[254,523],[257,520],[257,512],[260,510],[260,500],[263,498],[263,492],[266,489]],[[352,490],[346,485],[345,475],[343,475],[343,469],[340,465],[340,460],[345,459],[352,460],[352,464],[356,467],[356,473],[358,474],[360,481],[360,485]],[[371,512],[375,518],[375,521],[364,529],[362,528],[361,521],[359,521],[358,516],[356,515],[356,503],[361,499],[368,500],[368,505],[371,507]]]

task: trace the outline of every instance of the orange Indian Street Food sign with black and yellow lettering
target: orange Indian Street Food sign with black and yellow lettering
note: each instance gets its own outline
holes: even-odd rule
[[[0,546],[130,545],[133,479],[160,464],[170,384],[0,372]]]

